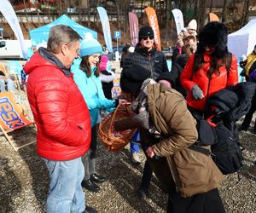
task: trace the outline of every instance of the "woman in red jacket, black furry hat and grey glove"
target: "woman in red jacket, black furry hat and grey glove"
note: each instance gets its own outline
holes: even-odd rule
[[[188,90],[192,112],[203,114],[211,95],[238,83],[237,60],[227,48],[228,30],[223,23],[212,21],[203,27],[195,54],[189,57],[180,82]]]

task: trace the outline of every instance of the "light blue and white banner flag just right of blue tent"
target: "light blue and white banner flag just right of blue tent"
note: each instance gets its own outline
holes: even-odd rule
[[[106,9],[102,7],[97,7],[98,13],[100,15],[100,20],[102,22],[102,30],[104,34],[104,40],[107,45],[107,48],[109,52],[113,52],[113,47],[112,47],[112,37],[111,37],[111,32],[110,32],[110,26],[109,26],[109,21],[108,21],[108,14]]]

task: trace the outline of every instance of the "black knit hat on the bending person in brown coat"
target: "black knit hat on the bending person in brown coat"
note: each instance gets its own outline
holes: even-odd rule
[[[120,78],[122,91],[136,94],[141,89],[143,81],[149,78],[150,74],[143,66],[132,66],[123,70]]]

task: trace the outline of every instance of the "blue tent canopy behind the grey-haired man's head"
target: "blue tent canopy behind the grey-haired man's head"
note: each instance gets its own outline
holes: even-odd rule
[[[42,43],[43,40],[47,42],[48,37],[49,37],[49,30],[52,26],[56,25],[66,25],[70,26],[75,30],[76,32],[79,33],[81,37],[84,38],[84,35],[86,32],[90,32],[94,38],[97,39],[97,32],[92,31],[84,26],[79,25],[77,22],[74,20],[71,20],[68,18],[66,14],[62,14],[61,17],[59,17],[57,20],[49,23],[48,25],[45,26],[40,26],[36,29],[33,29],[29,32],[30,38],[32,41],[35,41],[36,43]]]

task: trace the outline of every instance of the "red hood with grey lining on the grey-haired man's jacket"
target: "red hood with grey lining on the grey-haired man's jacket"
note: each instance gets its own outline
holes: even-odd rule
[[[30,74],[35,68],[39,66],[54,66],[61,69],[68,77],[71,76],[69,68],[66,68],[55,55],[51,54],[47,49],[39,48],[38,51],[32,55],[32,58],[26,62],[24,70],[26,74]]]

